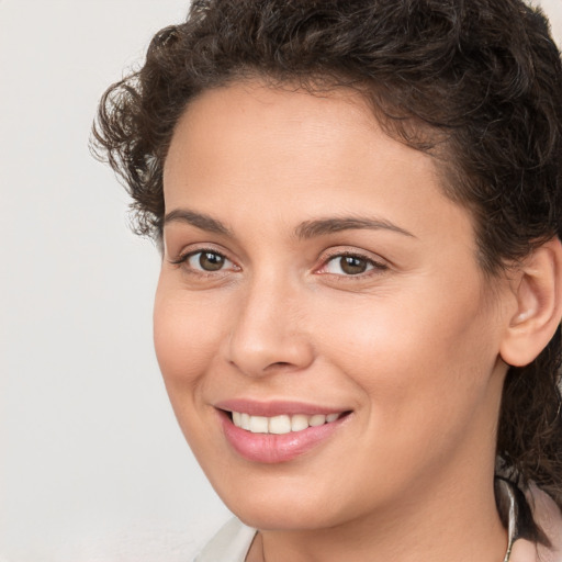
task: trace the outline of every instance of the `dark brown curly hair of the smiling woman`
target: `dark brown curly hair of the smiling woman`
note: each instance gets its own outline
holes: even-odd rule
[[[161,236],[162,167],[186,106],[256,77],[358,89],[391,136],[436,158],[443,191],[472,213],[487,276],[562,235],[560,52],[521,0],[194,0],[109,88],[93,127],[137,233]],[[509,369],[497,454],[562,507],[561,349],[559,327],[531,364]]]

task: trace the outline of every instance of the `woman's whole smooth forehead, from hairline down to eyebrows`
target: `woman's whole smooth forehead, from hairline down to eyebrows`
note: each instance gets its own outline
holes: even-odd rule
[[[389,136],[357,91],[314,93],[259,82],[210,90],[178,122],[165,166],[166,211],[226,222],[306,221],[359,212],[443,229],[468,214],[442,195],[434,158]]]

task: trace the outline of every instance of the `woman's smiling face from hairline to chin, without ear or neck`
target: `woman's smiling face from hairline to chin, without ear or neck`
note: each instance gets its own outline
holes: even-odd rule
[[[504,289],[439,178],[348,91],[238,83],[178,123],[156,351],[245,522],[334,527],[492,477]]]

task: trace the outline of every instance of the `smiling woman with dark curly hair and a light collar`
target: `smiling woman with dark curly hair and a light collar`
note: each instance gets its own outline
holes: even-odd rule
[[[519,0],[200,0],[108,90],[198,560],[562,560],[561,93]]]

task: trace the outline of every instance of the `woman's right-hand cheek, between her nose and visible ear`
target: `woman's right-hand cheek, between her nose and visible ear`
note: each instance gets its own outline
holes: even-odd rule
[[[331,361],[361,387],[375,415],[389,414],[390,425],[431,412],[468,413],[485,392],[497,359],[494,322],[477,292],[461,296],[402,293],[346,310],[333,304],[326,314],[323,326],[330,329],[323,339]]]

